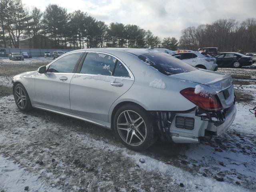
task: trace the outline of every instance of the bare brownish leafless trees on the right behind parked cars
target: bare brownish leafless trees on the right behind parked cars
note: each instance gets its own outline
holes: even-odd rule
[[[223,52],[256,52],[256,19],[219,19],[212,24],[190,26],[182,30],[179,42],[180,48],[189,50],[218,47]]]

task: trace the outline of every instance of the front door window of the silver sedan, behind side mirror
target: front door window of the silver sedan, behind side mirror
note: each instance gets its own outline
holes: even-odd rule
[[[50,64],[47,72],[50,73],[73,73],[76,63],[80,59],[83,53],[72,53],[66,55],[52,64]]]

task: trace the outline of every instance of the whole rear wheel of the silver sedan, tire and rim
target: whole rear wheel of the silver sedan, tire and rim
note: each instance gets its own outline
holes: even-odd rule
[[[145,150],[156,141],[153,122],[146,111],[136,105],[124,105],[117,110],[114,131],[131,150]]]

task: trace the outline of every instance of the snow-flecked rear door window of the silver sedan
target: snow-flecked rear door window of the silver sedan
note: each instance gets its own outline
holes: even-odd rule
[[[107,54],[88,52],[80,73],[111,76],[116,62]]]

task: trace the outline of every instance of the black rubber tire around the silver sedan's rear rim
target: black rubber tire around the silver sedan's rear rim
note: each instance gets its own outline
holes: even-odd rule
[[[126,141],[124,141],[122,139],[122,136],[121,136],[122,133],[118,132],[118,128],[117,128],[118,118],[121,115],[123,115],[124,112],[126,112],[126,111],[129,111],[129,113],[130,112],[132,112],[132,113],[135,112],[134,115],[138,114],[142,118],[141,121],[144,121],[144,123],[145,123],[145,124],[143,123],[142,125],[140,125],[140,129],[141,129],[141,126],[142,126],[143,129],[146,129],[146,131],[145,131],[146,136],[143,134],[144,133],[144,132],[142,132],[143,130],[139,130],[144,135],[144,138],[141,137],[138,134],[138,130],[136,130],[136,128],[135,128],[135,130],[130,130],[129,131],[129,134],[132,134],[132,132],[135,132],[138,136],[140,136],[140,138],[143,138],[143,142],[141,140],[140,142],[142,142],[142,143],[137,145],[137,146],[133,146],[133,145],[130,145],[130,144],[126,143]],[[115,113],[113,123],[114,123],[113,128],[114,128],[114,132],[115,132],[116,136],[120,139],[120,141],[124,144],[124,146],[126,146],[127,148],[129,148],[131,150],[135,150],[135,151],[145,150],[156,142],[157,137],[156,137],[156,133],[154,131],[153,122],[152,122],[152,120],[150,120],[148,114],[146,113],[146,110],[144,110],[140,106],[137,106],[137,105],[134,105],[134,104],[126,104],[126,105],[121,106]],[[129,126],[127,125],[127,127],[129,127]],[[120,128],[119,128],[119,130],[120,130]],[[126,132],[126,130],[124,130],[124,134],[126,134],[126,133],[128,133],[128,131]],[[127,138],[126,138],[126,140],[127,140]],[[135,138],[135,140],[136,139],[138,140],[137,137],[134,136],[134,138]],[[134,138],[133,138],[133,140],[134,140]],[[130,139],[128,139],[128,140],[130,140]]]

